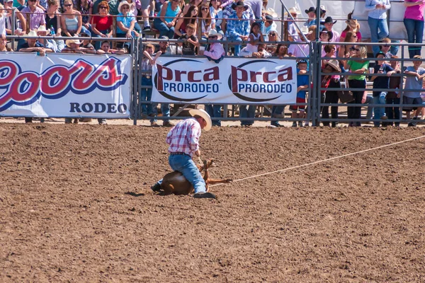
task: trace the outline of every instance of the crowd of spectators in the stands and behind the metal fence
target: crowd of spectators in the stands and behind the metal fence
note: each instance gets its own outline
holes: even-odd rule
[[[397,47],[391,43],[395,40],[390,39],[390,33],[387,26],[387,12],[391,8],[389,0],[366,0],[365,11],[368,12],[368,26],[370,28],[371,42],[380,42],[380,45],[374,45],[372,48],[373,57],[379,57],[375,67],[370,69],[368,50],[361,45],[362,35],[358,21],[348,15],[346,19],[346,28],[344,30],[335,30],[334,21],[331,16],[326,15],[324,6],[319,8],[310,7],[305,10],[308,18],[305,23],[297,20],[300,11],[297,8],[289,8],[284,14],[287,21],[288,35],[287,42],[281,42],[277,31],[275,19],[278,15],[273,9],[267,8],[267,0],[244,0],[244,1],[220,1],[220,0],[191,0],[185,3],[183,0],[0,0],[0,9],[6,9],[0,17],[0,49],[9,51],[6,36],[7,35],[27,35],[27,40],[18,40],[18,52],[38,52],[43,55],[48,52],[67,52],[67,53],[91,53],[91,54],[125,54],[130,52],[130,41],[118,42],[118,45],[108,40],[108,37],[123,37],[126,39],[142,37],[144,34],[152,32],[159,33],[159,38],[165,40],[178,39],[179,48],[176,52],[184,55],[203,55],[214,62],[220,62],[225,55],[243,56],[243,57],[309,57],[310,45],[307,43],[314,40],[316,30],[319,29],[319,41],[322,42],[322,71],[334,70],[334,72],[344,73],[346,71],[353,73],[348,76],[338,74],[323,76],[322,84],[329,88],[341,88],[341,81],[344,79],[346,86],[354,88],[353,102],[356,104],[367,103],[388,104],[397,103],[399,93],[373,92],[372,98],[363,91],[366,87],[366,81],[373,81],[373,86],[380,88],[396,86],[393,74],[401,74],[397,62],[387,62],[387,58],[397,58]],[[407,30],[407,41],[412,43],[421,43],[424,32],[424,9],[425,3],[421,0],[405,0],[404,6],[404,25]],[[12,11],[16,15],[12,17]],[[154,14],[156,13],[156,14]],[[317,22],[317,13],[320,20]],[[142,19],[143,28],[137,16]],[[153,17],[155,16],[155,17]],[[149,23],[149,17],[152,21]],[[114,18],[116,27],[114,28]],[[12,25],[16,27],[12,31]],[[156,30],[155,30],[156,29]],[[41,39],[38,36],[55,35],[51,39]],[[77,40],[73,37],[88,37],[86,40]],[[91,38],[89,38],[91,37]],[[98,40],[91,39],[98,37]],[[232,42],[224,48],[220,40],[225,39]],[[288,44],[290,42],[290,44]],[[341,44],[340,42],[344,42]],[[161,42],[160,45],[164,45]],[[169,43],[166,42],[168,47]],[[157,56],[166,52],[170,53],[169,48],[164,50],[164,46],[159,47],[157,53],[154,52],[152,45],[145,46],[146,70],[149,65],[154,64]],[[157,47],[158,49],[158,47]],[[421,59],[421,47],[409,47],[409,57]],[[335,60],[334,57],[342,59]],[[382,58],[383,57],[383,58]],[[419,61],[416,61],[419,62]],[[409,67],[403,71],[407,75],[406,83],[408,86],[419,86],[422,81],[422,71],[419,63],[414,62],[414,67]],[[305,62],[297,62],[299,80],[305,82]],[[307,65],[307,64],[306,64]],[[416,66],[417,65],[417,66]],[[377,67],[378,66],[378,67]],[[383,67],[382,67],[383,66]],[[151,66],[152,67],[152,66]],[[381,68],[382,67],[382,68]],[[377,69],[378,68],[378,69]],[[398,68],[398,69],[397,69]],[[414,69],[412,69],[414,68]],[[369,74],[368,74],[369,73]],[[378,74],[378,76],[374,76]],[[382,76],[380,74],[386,74]],[[414,83],[411,78],[416,78]],[[144,85],[152,78],[149,75],[144,76]],[[399,79],[400,81],[400,79]],[[152,84],[152,83],[151,83]],[[305,85],[298,86],[297,103],[305,103]],[[356,91],[358,89],[358,91]],[[386,97],[388,96],[388,97]],[[394,97],[395,96],[395,97]],[[405,92],[404,98],[407,104],[421,104],[420,93]],[[149,100],[149,91],[145,91],[142,98]],[[412,99],[407,99],[412,98]],[[339,97],[337,91],[325,91],[322,93],[323,103],[338,103]],[[420,103],[419,103],[420,102]],[[154,107],[142,107],[142,116],[154,117]],[[292,117],[302,119],[305,117],[305,105],[297,105],[296,108],[290,108],[293,111]],[[162,107],[165,117],[169,116],[169,105]],[[208,105],[208,112],[212,117],[220,117],[220,105]],[[273,107],[272,117],[281,117],[284,106]],[[374,118],[385,120],[399,117],[399,111],[395,108],[383,109],[375,107]],[[414,114],[414,118],[420,115],[420,108]],[[255,107],[253,105],[240,105],[240,117],[254,117]],[[322,108],[322,117],[329,117],[329,108]],[[356,120],[361,117],[361,108],[348,107],[348,118]],[[338,118],[338,108],[331,107],[331,118]],[[69,121],[68,121],[69,122]],[[102,121],[99,121],[100,123]],[[152,118],[152,125],[157,125],[157,121]],[[252,125],[253,120],[243,120],[242,125]],[[214,121],[215,125],[220,125],[219,120]],[[272,125],[279,126],[278,122],[271,122]],[[171,125],[169,120],[166,125]],[[336,122],[324,122],[324,125],[336,127]],[[358,126],[360,122],[351,122],[351,126]],[[380,126],[380,122],[375,122],[375,126]]]

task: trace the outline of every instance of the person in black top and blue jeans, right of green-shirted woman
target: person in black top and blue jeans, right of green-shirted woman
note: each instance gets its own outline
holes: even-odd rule
[[[375,66],[373,67],[373,74],[385,74],[386,76],[371,76],[370,81],[373,81],[373,89],[390,88],[390,78],[392,74],[395,74],[394,69],[385,62],[385,54],[382,52],[378,52],[376,54],[378,58]],[[386,120],[388,119],[387,115],[385,115],[385,108],[378,106],[379,104],[386,103],[387,91],[373,91],[373,112],[375,115],[373,116],[373,120]],[[380,122],[373,122],[375,127],[380,126]]]

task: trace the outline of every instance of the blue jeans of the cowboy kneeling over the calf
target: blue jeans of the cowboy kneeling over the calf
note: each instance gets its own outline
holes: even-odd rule
[[[197,192],[206,192],[205,180],[203,180],[202,175],[195,163],[193,162],[191,156],[186,154],[170,154],[169,164],[171,169],[174,171],[179,171],[183,174],[184,178],[193,185],[195,193]],[[161,185],[162,179],[158,181],[158,184]]]

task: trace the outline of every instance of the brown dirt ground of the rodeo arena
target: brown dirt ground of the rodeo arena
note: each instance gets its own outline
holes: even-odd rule
[[[0,123],[0,282],[425,282],[425,137],[158,196],[167,128]],[[425,128],[213,128],[238,180]]]

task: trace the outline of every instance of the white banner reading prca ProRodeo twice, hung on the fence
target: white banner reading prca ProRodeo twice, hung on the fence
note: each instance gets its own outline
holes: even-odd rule
[[[152,101],[158,103],[295,103],[297,69],[290,59],[159,57]]]

